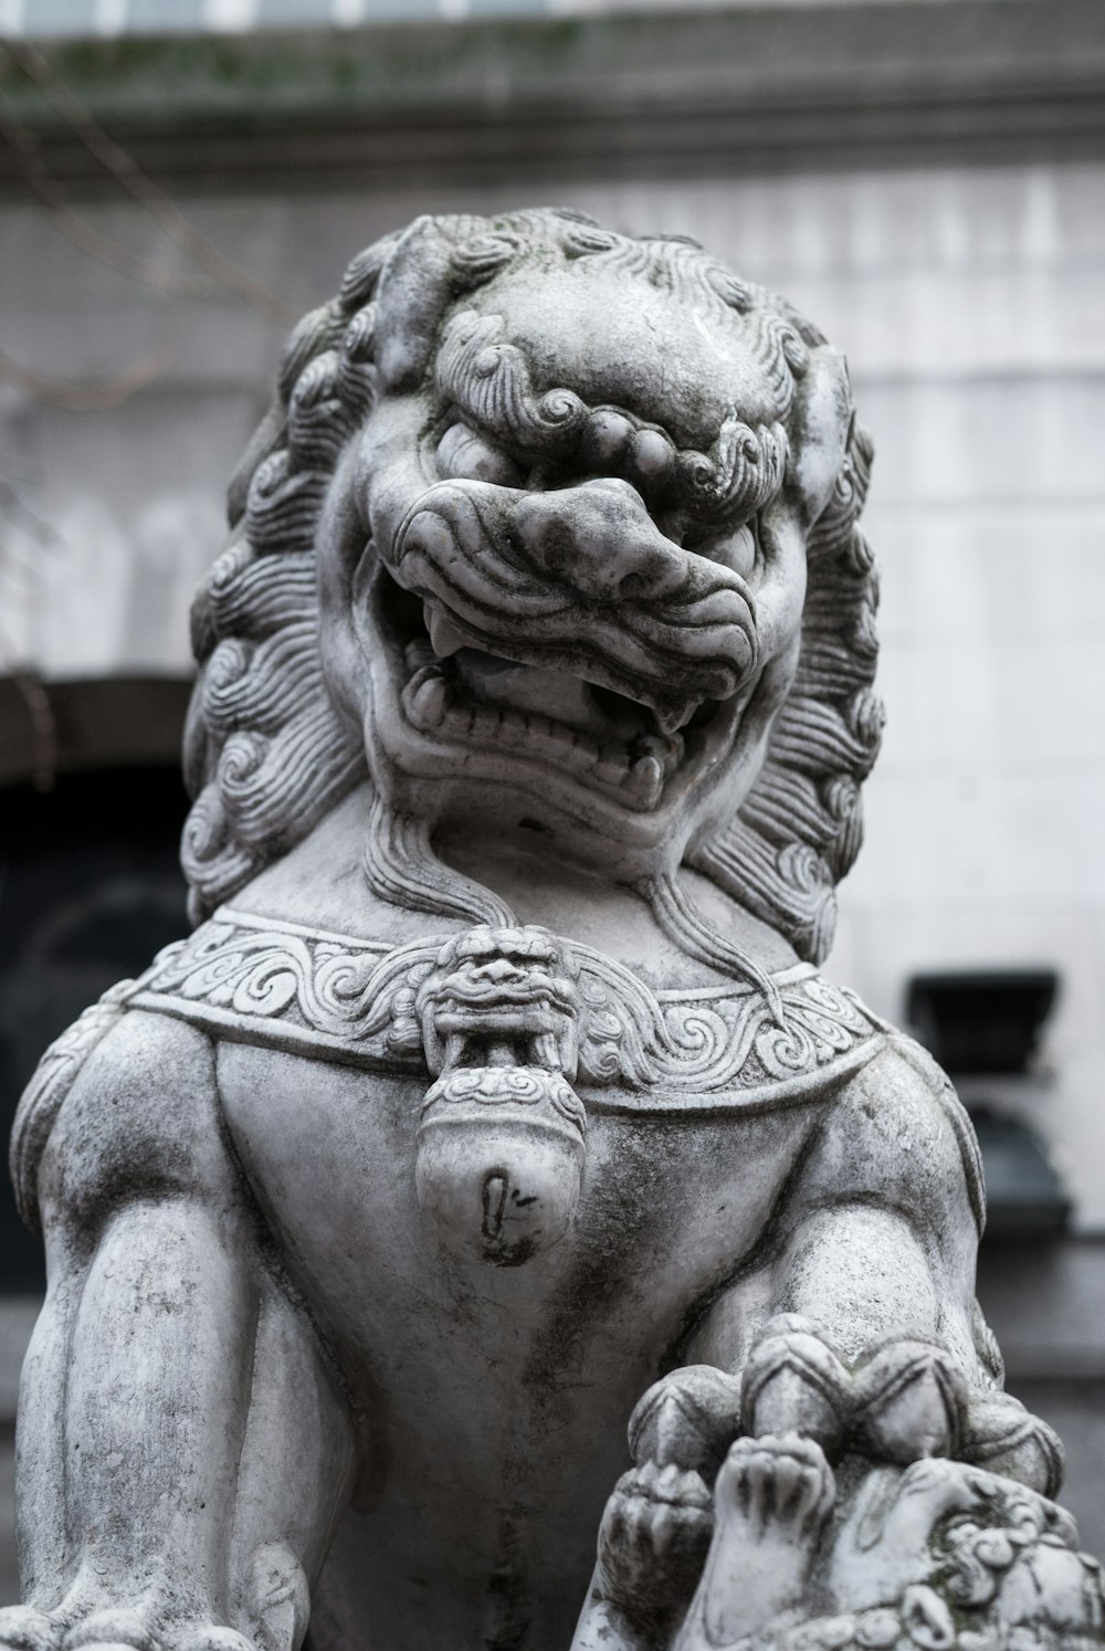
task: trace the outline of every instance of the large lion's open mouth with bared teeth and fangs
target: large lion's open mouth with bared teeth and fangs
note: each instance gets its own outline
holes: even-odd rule
[[[705,764],[732,726],[732,700],[704,700],[681,730],[667,730],[614,688],[469,647],[438,606],[382,565],[372,606],[418,733],[545,763],[626,807],[654,809],[669,781]]]

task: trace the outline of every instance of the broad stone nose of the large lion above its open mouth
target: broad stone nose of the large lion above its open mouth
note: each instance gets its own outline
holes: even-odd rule
[[[527,494],[512,527],[527,561],[593,601],[656,601],[687,580],[684,551],[664,538],[628,482]]]

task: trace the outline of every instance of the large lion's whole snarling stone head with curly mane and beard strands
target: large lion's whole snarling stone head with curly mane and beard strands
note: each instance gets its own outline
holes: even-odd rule
[[[681,238],[420,218],[296,329],[193,613],[203,916],[365,778],[388,898],[510,920],[446,819],[550,834],[819,961],[861,842],[875,575],[842,357]]]

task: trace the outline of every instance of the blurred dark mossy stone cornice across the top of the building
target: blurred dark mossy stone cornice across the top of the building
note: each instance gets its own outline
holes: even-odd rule
[[[145,170],[220,192],[1105,154],[1100,0],[124,38],[51,56]],[[104,187],[15,66],[0,89],[55,177]],[[23,188],[10,150],[0,187]]]

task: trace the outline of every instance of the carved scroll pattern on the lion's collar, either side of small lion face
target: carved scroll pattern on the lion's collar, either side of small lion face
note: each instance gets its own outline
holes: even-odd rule
[[[441,938],[396,949],[225,910],[164,951],[137,984],[140,1009],[225,1035],[378,1070],[423,1071],[416,1014]],[[629,969],[563,941],[580,997],[580,1086],[687,1105],[768,1098],[870,1058],[880,1034],[861,1004],[803,964],[776,976],[778,1010],[755,989],[654,992]]]

